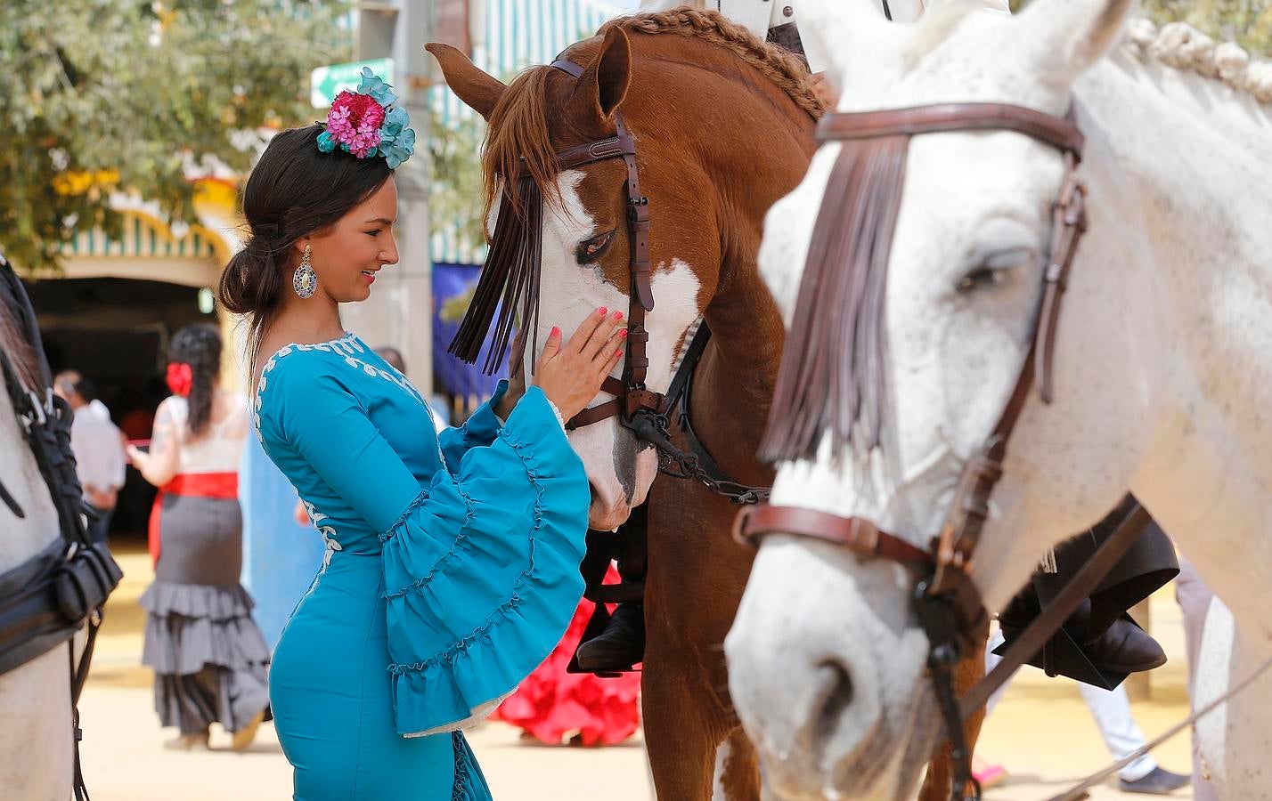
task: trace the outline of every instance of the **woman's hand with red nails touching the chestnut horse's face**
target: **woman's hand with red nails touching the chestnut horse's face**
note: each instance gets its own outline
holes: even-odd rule
[[[627,329],[619,328],[622,322],[621,312],[597,309],[565,345],[561,329],[552,329],[534,366],[534,385],[563,418],[570,420],[588,407],[622,359],[627,338]]]

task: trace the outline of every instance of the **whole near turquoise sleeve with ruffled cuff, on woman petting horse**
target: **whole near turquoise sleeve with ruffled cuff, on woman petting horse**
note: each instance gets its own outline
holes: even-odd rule
[[[548,656],[583,595],[588,479],[551,404],[529,388],[506,425],[469,434],[492,431],[488,445],[421,486],[340,376],[284,366],[271,385],[301,400],[281,412],[282,439],[382,531],[398,732],[480,720]],[[289,380],[294,395],[277,387]]]

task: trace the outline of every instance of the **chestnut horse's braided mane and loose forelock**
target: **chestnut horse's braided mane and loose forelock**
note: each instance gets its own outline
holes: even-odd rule
[[[628,33],[672,34],[700,39],[722,47],[782,89],[796,106],[814,120],[820,118],[826,104],[818,98],[805,62],[795,53],[770,44],[745,27],[707,10],[677,9],[633,14],[613,19],[597,32],[612,28]],[[589,39],[591,41],[591,39]],[[569,53],[569,51],[566,51]],[[544,202],[555,203],[556,149],[548,136],[548,98],[546,84],[552,67],[533,66],[523,70],[509,84],[490,116],[486,145],[482,149],[486,219],[500,195],[502,177],[516,175],[523,168],[539,186]],[[504,192],[514,212],[525,210],[514,192]]]

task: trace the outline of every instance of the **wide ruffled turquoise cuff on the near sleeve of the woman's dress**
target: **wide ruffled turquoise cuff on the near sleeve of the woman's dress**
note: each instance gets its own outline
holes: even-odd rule
[[[542,392],[527,392],[497,440],[496,454],[466,465],[458,491],[467,519],[450,551],[385,595],[402,735],[458,729],[494,711],[552,652],[583,595],[588,482]],[[511,479],[513,460],[527,483]],[[385,558],[425,537],[398,531]]]

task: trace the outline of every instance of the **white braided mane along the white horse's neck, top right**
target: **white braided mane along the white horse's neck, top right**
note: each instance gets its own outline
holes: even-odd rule
[[[1124,50],[1141,62],[1158,64],[1217,80],[1272,103],[1272,62],[1255,60],[1235,42],[1216,42],[1187,23],[1158,28],[1152,20],[1132,19],[1123,39]]]

